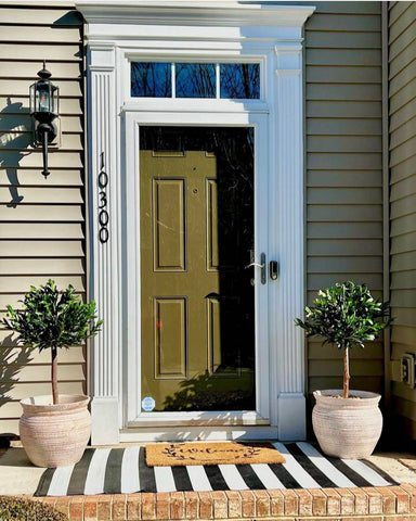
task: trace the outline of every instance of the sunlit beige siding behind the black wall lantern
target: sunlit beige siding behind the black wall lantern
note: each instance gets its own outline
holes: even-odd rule
[[[0,314],[30,284],[53,278],[83,297],[83,47],[82,21],[73,5],[0,3]],[[62,143],[50,149],[51,175],[30,148],[28,90],[47,60],[61,89]],[[17,198],[22,202],[15,204]],[[50,393],[50,353],[28,352],[0,327],[0,433],[17,432],[18,401]],[[84,393],[86,350],[58,354],[60,392]]]

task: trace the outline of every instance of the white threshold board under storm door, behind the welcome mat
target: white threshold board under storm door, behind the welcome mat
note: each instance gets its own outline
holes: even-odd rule
[[[276,425],[235,425],[235,427],[141,427],[120,430],[120,443],[133,442],[191,442],[191,441],[232,441],[232,440],[277,440]]]

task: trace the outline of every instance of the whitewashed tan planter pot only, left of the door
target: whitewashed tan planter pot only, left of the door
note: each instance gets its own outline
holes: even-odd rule
[[[79,461],[91,433],[89,396],[35,396],[21,401],[20,434],[30,461],[37,467],[64,467]]]

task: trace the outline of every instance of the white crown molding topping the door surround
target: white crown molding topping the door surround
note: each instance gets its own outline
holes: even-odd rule
[[[315,10],[270,0],[78,0],[75,5],[89,24],[198,26],[299,27]]]

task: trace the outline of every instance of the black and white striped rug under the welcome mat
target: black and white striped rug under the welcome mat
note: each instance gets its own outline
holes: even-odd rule
[[[144,447],[88,448],[75,466],[46,470],[35,496],[398,484],[369,461],[326,457],[303,442],[273,445],[286,463],[147,467]]]

